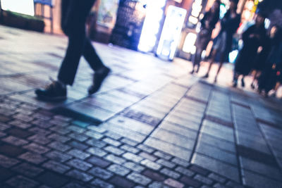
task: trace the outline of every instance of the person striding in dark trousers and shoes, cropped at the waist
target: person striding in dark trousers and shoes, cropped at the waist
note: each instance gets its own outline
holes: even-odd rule
[[[94,1],[61,1],[61,28],[68,36],[68,48],[61,63],[58,80],[53,81],[45,89],[36,89],[35,94],[38,99],[44,101],[65,100],[67,96],[66,85],[73,84],[81,56],[85,57],[95,72],[93,84],[88,89],[89,94],[97,92],[104,78],[109,74],[110,69],[102,63],[90,39],[85,34],[85,23]]]

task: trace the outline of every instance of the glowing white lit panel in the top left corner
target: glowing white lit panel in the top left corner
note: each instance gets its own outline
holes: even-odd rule
[[[1,8],[4,11],[35,15],[33,0],[1,0]]]

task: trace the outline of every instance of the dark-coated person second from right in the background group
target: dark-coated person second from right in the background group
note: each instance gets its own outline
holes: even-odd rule
[[[266,40],[266,30],[264,28],[265,16],[257,14],[255,25],[250,26],[243,32],[243,49],[240,50],[235,61],[233,87],[238,84],[238,77],[243,75],[241,79],[242,87],[245,87],[244,77],[248,75],[255,62],[259,46],[262,46]]]

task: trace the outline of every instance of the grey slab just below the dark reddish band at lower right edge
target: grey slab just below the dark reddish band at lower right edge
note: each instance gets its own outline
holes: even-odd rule
[[[240,156],[241,168],[249,170],[264,177],[273,178],[276,180],[281,180],[282,173],[281,170],[277,167],[266,165],[264,163],[259,163],[257,161],[252,161],[251,159]]]

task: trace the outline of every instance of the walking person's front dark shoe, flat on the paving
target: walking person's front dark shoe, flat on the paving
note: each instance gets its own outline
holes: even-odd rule
[[[36,89],[35,94],[41,101],[64,101],[66,100],[66,85],[53,81],[45,89]]]

